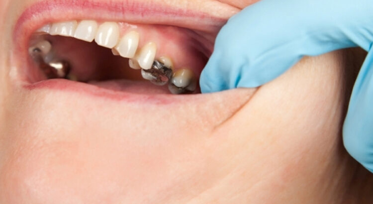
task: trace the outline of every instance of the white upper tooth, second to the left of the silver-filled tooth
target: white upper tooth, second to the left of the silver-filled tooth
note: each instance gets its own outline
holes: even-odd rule
[[[139,45],[139,39],[140,34],[136,31],[131,31],[122,37],[115,49],[119,52],[120,56],[133,58]]]

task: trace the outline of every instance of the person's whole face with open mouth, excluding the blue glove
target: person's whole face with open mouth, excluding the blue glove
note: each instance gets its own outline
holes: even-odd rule
[[[219,29],[254,2],[1,0],[0,203],[354,192],[340,137],[351,51],[305,58],[258,89],[200,94]]]

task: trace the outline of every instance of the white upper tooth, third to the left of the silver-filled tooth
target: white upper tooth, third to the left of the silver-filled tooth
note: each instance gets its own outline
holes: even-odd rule
[[[100,46],[113,48],[119,40],[119,26],[115,22],[102,23],[97,30],[94,41]]]

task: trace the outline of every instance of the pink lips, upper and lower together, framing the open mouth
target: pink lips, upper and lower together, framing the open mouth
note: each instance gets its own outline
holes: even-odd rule
[[[139,0],[103,1],[103,0],[44,0],[28,7],[16,22],[13,32],[13,57],[24,88],[54,89],[61,91],[79,92],[95,97],[106,97],[112,100],[126,102],[163,103],[193,100],[196,96],[172,95],[138,95],[125,92],[113,92],[92,85],[74,83],[66,80],[47,80],[30,84],[27,80],[25,59],[29,59],[27,52],[28,39],[31,34],[48,22],[71,19],[95,19],[101,21],[122,21],[131,23],[169,24],[181,27],[193,27],[196,30],[217,32],[226,19],[210,16],[202,12],[186,11],[181,8],[161,5],[157,2],[144,3]],[[201,97],[201,96],[199,96]],[[178,100],[180,99],[180,100]]]

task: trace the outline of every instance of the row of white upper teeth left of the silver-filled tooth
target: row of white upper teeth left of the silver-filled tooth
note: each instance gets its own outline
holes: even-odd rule
[[[115,54],[137,61],[132,63],[133,68],[151,69],[157,52],[157,45],[154,42],[147,43],[137,51],[140,34],[130,31],[120,38],[120,30],[116,22],[104,22],[98,25],[94,20],[82,20],[79,23],[72,20],[48,24],[38,31],[74,37],[87,42],[94,40],[100,46],[113,49]]]

